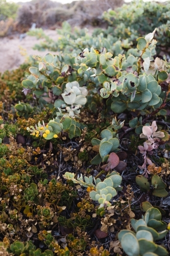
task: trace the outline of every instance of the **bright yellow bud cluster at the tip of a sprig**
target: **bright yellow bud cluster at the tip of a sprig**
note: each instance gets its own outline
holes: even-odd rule
[[[38,126],[35,125],[35,128],[34,128],[34,126],[27,127],[27,131],[31,132],[31,135],[33,135],[37,138],[39,136],[46,138],[47,135],[51,133],[51,131],[48,130],[48,124],[45,125],[44,121],[42,121],[42,124],[39,121]],[[57,138],[57,137],[58,137],[58,135],[54,134],[53,138]]]

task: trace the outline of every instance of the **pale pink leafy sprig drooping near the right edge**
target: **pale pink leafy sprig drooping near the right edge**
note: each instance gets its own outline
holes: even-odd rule
[[[142,134],[140,134],[140,138],[142,139],[148,139],[143,143],[143,146],[138,146],[140,153],[143,155],[144,163],[142,166],[138,166],[140,169],[144,169],[143,175],[145,177],[148,177],[148,174],[150,173],[150,170],[147,169],[147,164],[152,165],[152,161],[147,158],[147,151],[150,155],[153,154],[154,149],[158,148],[159,143],[161,142],[161,139],[165,135],[163,132],[156,132],[158,129],[156,125],[156,121],[152,122],[151,126],[143,126],[142,128]]]

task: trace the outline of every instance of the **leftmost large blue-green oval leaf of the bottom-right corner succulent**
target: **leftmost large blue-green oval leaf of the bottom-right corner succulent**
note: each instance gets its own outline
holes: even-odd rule
[[[124,234],[121,245],[128,256],[139,256],[139,243],[134,234],[130,232]]]

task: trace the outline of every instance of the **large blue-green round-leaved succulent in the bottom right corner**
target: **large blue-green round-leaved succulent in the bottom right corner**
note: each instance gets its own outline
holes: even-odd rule
[[[131,219],[131,225],[135,232],[121,230],[118,233],[118,239],[128,256],[168,255],[164,247],[154,243],[167,233],[166,223],[161,221],[161,213],[157,208],[149,208],[142,219]]]

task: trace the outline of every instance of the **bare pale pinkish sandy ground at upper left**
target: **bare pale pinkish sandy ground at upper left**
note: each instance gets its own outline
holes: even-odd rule
[[[59,35],[55,30],[44,30],[45,34],[52,39],[57,40]],[[18,36],[0,38],[0,73],[6,70],[13,70],[19,67],[25,62],[26,56],[23,56],[21,52],[26,52],[27,56],[40,55],[44,56],[47,52],[39,52],[33,50],[32,47],[43,39],[37,39],[34,36],[26,36],[22,40],[19,40]],[[55,52],[51,52],[54,53]]]

